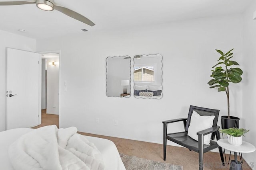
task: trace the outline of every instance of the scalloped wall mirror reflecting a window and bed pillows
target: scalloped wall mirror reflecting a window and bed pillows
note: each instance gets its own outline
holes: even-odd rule
[[[162,98],[162,55],[134,56],[134,97]]]

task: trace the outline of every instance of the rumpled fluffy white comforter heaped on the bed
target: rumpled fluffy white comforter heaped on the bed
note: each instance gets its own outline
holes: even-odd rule
[[[17,170],[103,170],[98,149],[76,132],[76,127],[51,125],[22,135],[9,147],[12,166]]]

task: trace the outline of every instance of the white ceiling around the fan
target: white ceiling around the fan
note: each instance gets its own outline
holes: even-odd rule
[[[7,0],[0,0],[7,1]],[[15,0],[10,0],[15,1]],[[90,27],[56,10],[35,4],[0,6],[0,29],[43,39],[89,31],[156,25],[209,16],[241,14],[252,0],[54,0],[92,20]],[[20,32],[18,29],[25,29]]]

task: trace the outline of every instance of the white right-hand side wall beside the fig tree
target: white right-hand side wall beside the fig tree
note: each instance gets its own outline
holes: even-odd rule
[[[252,20],[253,12],[256,11],[256,2],[253,1],[243,16],[243,115],[242,123],[245,129],[250,131],[244,137],[245,141],[256,146],[256,20]],[[243,154],[246,162],[254,165],[256,169],[256,152]]]

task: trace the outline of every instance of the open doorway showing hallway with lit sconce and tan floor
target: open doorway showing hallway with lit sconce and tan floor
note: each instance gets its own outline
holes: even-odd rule
[[[59,115],[60,53],[42,53],[42,125],[56,124]]]

